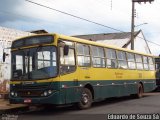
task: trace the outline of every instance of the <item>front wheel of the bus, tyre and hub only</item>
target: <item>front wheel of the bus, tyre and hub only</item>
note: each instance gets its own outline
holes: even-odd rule
[[[88,88],[83,88],[81,100],[78,103],[79,109],[87,109],[92,105],[92,93]]]

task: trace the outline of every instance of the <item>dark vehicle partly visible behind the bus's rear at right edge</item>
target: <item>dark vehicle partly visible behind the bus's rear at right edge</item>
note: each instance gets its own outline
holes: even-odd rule
[[[156,85],[160,86],[160,57],[155,58],[156,64]]]

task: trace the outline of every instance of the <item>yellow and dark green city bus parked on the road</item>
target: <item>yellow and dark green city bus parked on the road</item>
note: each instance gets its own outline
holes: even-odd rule
[[[11,47],[10,102],[76,104],[156,86],[154,56],[60,34],[15,40]]]

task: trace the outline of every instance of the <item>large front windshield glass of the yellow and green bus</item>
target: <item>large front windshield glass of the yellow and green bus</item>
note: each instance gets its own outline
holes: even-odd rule
[[[12,52],[12,80],[34,80],[57,75],[56,48],[39,46]]]

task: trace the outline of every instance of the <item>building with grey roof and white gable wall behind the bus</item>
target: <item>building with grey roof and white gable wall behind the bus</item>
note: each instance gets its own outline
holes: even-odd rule
[[[143,32],[141,30],[137,31],[134,33],[134,36],[135,36],[134,50],[151,54],[150,48],[147,44],[147,41],[145,40]],[[130,32],[76,35],[74,37],[131,49],[131,33]]]

